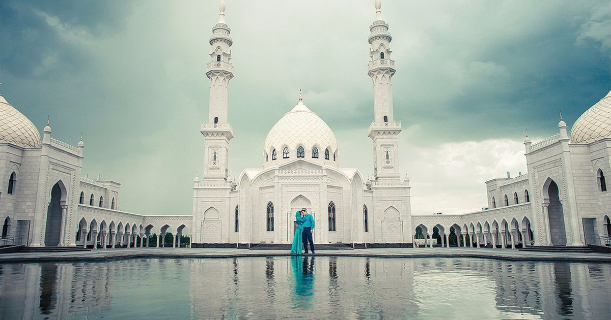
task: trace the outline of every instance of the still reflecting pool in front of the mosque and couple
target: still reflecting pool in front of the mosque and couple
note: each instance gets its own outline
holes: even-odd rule
[[[268,257],[0,264],[0,319],[610,319],[611,265]]]

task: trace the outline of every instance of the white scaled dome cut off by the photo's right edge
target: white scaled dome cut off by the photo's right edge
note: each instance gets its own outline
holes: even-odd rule
[[[571,143],[611,138],[611,91],[584,112],[571,128]]]

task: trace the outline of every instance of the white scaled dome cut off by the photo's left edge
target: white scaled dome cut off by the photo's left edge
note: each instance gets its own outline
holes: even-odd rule
[[[40,147],[40,132],[30,119],[0,96],[0,141],[23,148]]]

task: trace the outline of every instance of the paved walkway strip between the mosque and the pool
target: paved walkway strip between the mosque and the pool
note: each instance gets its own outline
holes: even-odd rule
[[[144,248],[97,249],[76,252],[31,252],[0,255],[0,263],[41,261],[106,261],[130,258],[233,258],[290,255],[279,250],[232,248]],[[318,251],[319,256],[375,258],[490,258],[513,261],[572,261],[611,263],[611,254],[582,252],[533,252],[511,249],[475,248],[388,248]]]

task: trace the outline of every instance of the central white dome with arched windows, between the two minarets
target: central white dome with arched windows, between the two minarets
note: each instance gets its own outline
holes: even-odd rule
[[[296,157],[299,146],[304,148],[305,158],[312,157],[312,148],[318,148],[321,159],[324,159],[325,149],[329,149],[330,160],[337,155],[337,139],[327,124],[316,113],[312,112],[299,100],[293,110],[285,113],[265,138],[264,152],[268,160],[272,160],[272,152],[276,149],[277,160],[282,159],[282,150],[288,147],[289,158]]]

